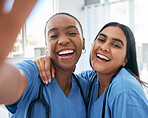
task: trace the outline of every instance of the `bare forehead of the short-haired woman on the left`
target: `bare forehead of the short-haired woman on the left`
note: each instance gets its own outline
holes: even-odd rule
[[[66,28],[68,26],[75,26],[80,31],[80,25],[76,19],[65,14],[59,14],[52,17],[47,23],[46,29],[51,28]]]

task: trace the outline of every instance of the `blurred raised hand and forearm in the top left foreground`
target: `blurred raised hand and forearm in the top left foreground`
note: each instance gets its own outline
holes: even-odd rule
[[[15,0],[9,13],[3,12],[5,2],[6,0],[0,1],[0,66],[11,51],[21,27],[37,0]]]

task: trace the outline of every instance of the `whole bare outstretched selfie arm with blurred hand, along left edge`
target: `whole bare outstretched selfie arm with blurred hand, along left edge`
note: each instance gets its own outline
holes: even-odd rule
[[[37,0],[15,0],[9,13],[3,12],[5,2],[0,1],[0,104],[10,105],[24,93],[27,78],[24,72],[4,60]]]

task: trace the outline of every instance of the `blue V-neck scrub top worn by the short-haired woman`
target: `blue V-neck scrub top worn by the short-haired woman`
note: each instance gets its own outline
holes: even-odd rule
[[[17,66],[27,76],[27,89],[18,102],[6,107],[10,111],[10,118],[26,118],[29,104],[38,97],[41,80],[38,69],[33,61],[23,61],[18,63]],[[43,87],[43,97],[49,104],[50,118],[86,118],[86,110],[80,88],[73,76],[71,79],[72,88],[68,97],[65,96],[55,78],[52,78],[51,83]],[[88,81],[81,77],[78,77],[78,80],[81,86],[83,86],[82,89],[86,99],[89,88]],[[31,118],[45,118],[45,106],[37,103],[33,107],[31,114]]]

